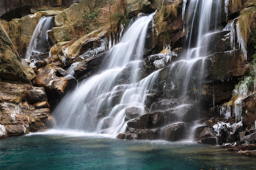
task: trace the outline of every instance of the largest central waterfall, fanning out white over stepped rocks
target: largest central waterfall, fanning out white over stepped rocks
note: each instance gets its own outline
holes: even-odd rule
[[[141,107],[143,110],[145,96],[150,93],[158,73],[139,81],[139,65],[153,15],[139,17],[108,52],[105,70],[84,80],[63,98],[52,113],[58,128],[116,135],[126,129],[126,108]],[[132,70],[128,82],[118,83],[127,65]]]

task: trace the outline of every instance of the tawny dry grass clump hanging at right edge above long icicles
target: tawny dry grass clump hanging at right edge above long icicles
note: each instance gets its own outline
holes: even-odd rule
[[[244,9],[238,18],[241,35],[248,42],[252,31],[256,29],[256,7]]]

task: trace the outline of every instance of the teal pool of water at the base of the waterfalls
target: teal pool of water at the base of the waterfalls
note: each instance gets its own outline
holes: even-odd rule
[[[256,159],[193,142],[48,131],[0,140],[0,170],[253,170]]]

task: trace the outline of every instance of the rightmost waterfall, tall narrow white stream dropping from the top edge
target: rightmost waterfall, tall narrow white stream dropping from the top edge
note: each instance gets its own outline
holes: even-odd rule
[[[187,127],[191,126],[191,122],[194,124],[192,126],[200,126],[198,120],[200,120],[200,95],[205,78],[205,63],[213,54],[211,39],[220,25],[218,22],[221,21],[221,3],[221,0],[190,0],[188,3],[183,3],[183,8],[186,10],[182,9],[182,11],[187,11],[184,17],[188,21],[185,23],[188,31],[188,39],[184,43],[186,50],[180,54],[180,60],[169,67],[166,84],[169,86],[167,89],[171,90],[166,92],[166,96],[175,101],[176,106],[173,109],[179,107],[176,121],[190,124]],[[188,28],[191,28],[190,31]],[[187,130],[187,135],[192,137],[193,129],[195,128]]]

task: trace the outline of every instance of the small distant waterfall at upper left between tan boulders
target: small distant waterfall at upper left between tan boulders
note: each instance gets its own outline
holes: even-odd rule
[[[52,17],[42,17],[31,37],[25,59],[30,59],[32,55],[49,51],[49,42],[47,31],[52,29]]]

